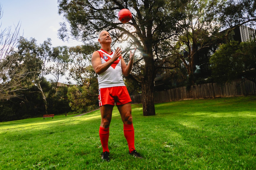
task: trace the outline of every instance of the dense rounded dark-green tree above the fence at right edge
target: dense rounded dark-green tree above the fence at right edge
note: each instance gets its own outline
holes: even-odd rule
[[[231,41],[211,56],[212,77],[216,82],[246,78],[256,84],[256,42]]]

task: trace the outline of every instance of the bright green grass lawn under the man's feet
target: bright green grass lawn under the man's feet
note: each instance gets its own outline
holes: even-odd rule
[[[128,154],[116,107],[110,162],[102,162],[100,113],[0,123],[0,169],[255,169],[256,96],[132,105],[135,147]]]

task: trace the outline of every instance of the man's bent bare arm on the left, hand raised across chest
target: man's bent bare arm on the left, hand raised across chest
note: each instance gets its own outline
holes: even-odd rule
[[[107,62],[105,62],[103,64],[101,63],[101,58],[100,58],[99,52],[94,51],[94,53],[91,56],[91,64],[92,64],[94,71],[98,75],[105,72],[111,66],[111,64],[113,64],[113,62],[115,62],[118,59],[118,57],[122,55],[120,49],[121,48],[118,47],[116,49],[115,54],[112,57],[112,59],[108,60]]]

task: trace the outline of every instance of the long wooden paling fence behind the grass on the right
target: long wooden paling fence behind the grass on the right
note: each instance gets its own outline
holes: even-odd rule
[[[255,83],[249,80],[234,80],[230,83],[207,83],[154,92],[154,103],[199,98],[232,97],[255,95]],[[131,95],[133,104],[142,103],[142,95]]]

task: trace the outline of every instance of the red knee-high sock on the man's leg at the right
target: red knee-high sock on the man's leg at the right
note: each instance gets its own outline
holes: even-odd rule
[[[124,124],[124,137],[127,140],[129,152],[135,150],[133,124]]]

